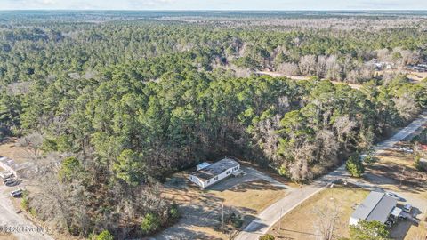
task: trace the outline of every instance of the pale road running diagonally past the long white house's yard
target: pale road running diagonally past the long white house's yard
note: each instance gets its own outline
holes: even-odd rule
[[[378,144],[375,149],[379,153],[387,148],[393,147],[400,140],[404,140],[412,132],[415,132],[423,124],[427,123],[427,112],[420,115],[414,122],[407,125],[404,129],[400,130],[394,136],[388,140],[384,140]],[[262,211],[255,220],[253,220],[246,228],[235,238],[237,240],[255,240],[259,236],[265,234],[278,220],[282,214],[286,214],[294,209],[297,205],[301,204],[306,199],[317,194],[334,180],[348,177],[348,172],[345,170],[345,166],[342,165],[334,172],[330,172],[327,175],[313,181],[310,185],[303,188],[297,188],[291,190],[291,192],[278,200],[275,204],[271,204],[270,207]]]

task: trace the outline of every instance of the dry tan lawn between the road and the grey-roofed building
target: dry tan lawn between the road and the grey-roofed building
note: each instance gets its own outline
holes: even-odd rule
[[[288,212],[273,228],[270,228],[269,234],[285,239],[317,239],[318,231],[318,211],[339,212],[339,226],[336,228],[336,236],[349,236],[350,215],[356,209],[356,204],[360,204],[369,191],[352,186],[337,186],[326,188],[315,196],[311,196],[301,205]],[[328,207],[326,207],[328,206]]]

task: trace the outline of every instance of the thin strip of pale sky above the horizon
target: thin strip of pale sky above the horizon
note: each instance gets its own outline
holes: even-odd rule
[[[427,0],[0,0],[0,10],[427,10]]]

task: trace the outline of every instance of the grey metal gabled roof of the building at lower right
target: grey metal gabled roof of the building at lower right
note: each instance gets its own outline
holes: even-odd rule
[[[396,204],[398,201],[391,196],[380,192],[371,192],[358,209],[353,212],[351,218],[367,221],[378,220],[384,223]]]

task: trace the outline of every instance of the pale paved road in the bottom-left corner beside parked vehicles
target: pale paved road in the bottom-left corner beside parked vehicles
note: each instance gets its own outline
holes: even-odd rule
[[[13,230],[13,236],[20,240],[52,240],[51,236],[37,231],[37,227],[27,220],[22,213],[18,214],[14,211],[9,193],[15,188],[19,187],[10,188],[0,183],[0,230],[5,227],[16,227],[17,229]]]

